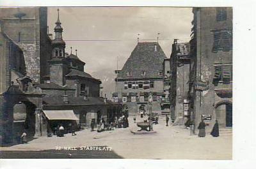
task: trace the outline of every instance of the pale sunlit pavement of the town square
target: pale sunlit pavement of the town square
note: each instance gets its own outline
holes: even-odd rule
[[[140,118],[137,118],[140,121]],[[112,131],[97,133],[90,129],[78,131],[76,136],[67,134],[64,137],[40,137],[27,144],[1,147],[1,151],[46,151],[68,152],[70,149],[80,147],[107,146],[111,147],[113,154],[100,154],[95,158],[130,158],[130,159],[232,159],[232,135],[213,138],[211,135],[198,138],[189,135],[189,129],[180,126],[165,126],[164,117],[159,117],[159,124],[154,125],[156,133],[134,135],[131,129],[137,129],[132,117],[129,118],[129,128],[118,128]],[[3,153],[2,152],[2,153]],[[83,151],[73,150],[73,154],[83,154]],[[71,153],[71,154],[72,154]],[[88,152],[84,152],[85,154]],[[70,154],[70,153],[65,153]],[[77,158],[93,158],[79,156]],[[16,158],[22,158],[22,153],[17,153]],[[68,158],[68,157],[67,157]],[[72,157],[74,158],[74,156]]]

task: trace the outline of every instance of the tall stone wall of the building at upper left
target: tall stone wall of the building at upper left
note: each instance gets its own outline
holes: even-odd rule
[[[45,43],[47,39],[46,8],[1,8],[0,13],[0,19],[3,20],[2,31],[10,36],[24,52],[27,75],[35,82],[40,82],[40,75],[47,75],[47,70],[49,72],[46,60],[50,55],[47,52],[40,54],[40,51],[47,51],[49,48],[48,43]],[[17,13],[26,15],[19,19],[15,17]],[[44,45],[40,50],[42,43]],[[40,61],[41,58],[42,61]]]

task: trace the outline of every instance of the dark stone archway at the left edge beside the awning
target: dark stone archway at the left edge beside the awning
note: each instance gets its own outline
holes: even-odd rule
[[[17,103],[26,105],[26,126],[29,129],[29,134],[35,136],[42,135],[42,124],[45,124],[42,117],[42,93],[26,93],[19,89],[19,86],[12,85],[8,91],[0,96],[0,112],[1,112],[1,137],[3,143],[13,142],[15,133],[13,133],[13,107]]]

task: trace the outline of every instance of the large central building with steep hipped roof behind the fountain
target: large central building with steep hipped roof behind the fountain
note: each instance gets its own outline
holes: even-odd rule
[[[157,42],[138,42],[122,70],[116,70],[115,102],[125,103],[136,113],[140,105],[153,96],[153,109],[161,110],[161,102],[169,101],[170,64]]]

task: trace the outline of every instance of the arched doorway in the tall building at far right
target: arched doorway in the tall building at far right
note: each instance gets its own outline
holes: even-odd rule
[[[232,127],[232,102],[220,101],[217,103],[215,115],[220,127]]]

